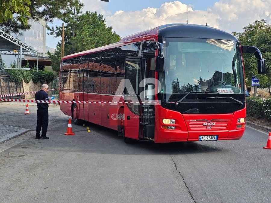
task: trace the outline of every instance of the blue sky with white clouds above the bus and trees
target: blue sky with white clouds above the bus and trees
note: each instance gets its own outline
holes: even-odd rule
[[[255,20],[271,24],[271,0],[81,0],[83,12],[103,14],[107,26],[121,37],[170,23],[199,24],[226,32],[243,32]],[[61,26],[55,20],[49,26]],[[48,32],[48,31],[47,31]],[[55,48],[61,38],[46,35],[46,46]]]

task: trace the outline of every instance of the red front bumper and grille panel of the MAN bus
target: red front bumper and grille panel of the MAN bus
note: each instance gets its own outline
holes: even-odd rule
[[[181,114],[161,106],[155,107],[155,143],[198,141],[200,135],[218,135],[218,140],[239,140],[245,131],[245,126],[237,128],[238,118],[245,118],[245,109],[229,114]],[[163,118],[175,119],[175,130],[164,129]],[[207,129],[203,123],[215,120],[215,125]],[[217,121],[221,120],[221,121]]]

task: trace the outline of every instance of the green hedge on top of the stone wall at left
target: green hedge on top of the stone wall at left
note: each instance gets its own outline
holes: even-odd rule
[[[41,82],[42,84],[45,83],[45,81],[49,84],[54,79],[54,73],[48,71],[48,70],[39,70],[39,72],[36,72],[35,70],[18,70],[18,69],[10,69],[7,70],[8,74],[10,75],[11,81],[16,82],[22,82],[29,83],[30,80],[34,83]]]

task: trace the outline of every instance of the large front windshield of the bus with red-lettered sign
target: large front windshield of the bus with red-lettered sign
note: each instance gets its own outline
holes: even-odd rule
[[[164,38],[161,93],[217,92],[244,94],[239,43],[202,38]]]

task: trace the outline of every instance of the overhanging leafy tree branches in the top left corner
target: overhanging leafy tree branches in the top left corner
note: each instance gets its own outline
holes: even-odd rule
[[[0,27],[6,33],[20,33],[30,29],[30,18],[52,22],[65,16],[75,3],[74,0],[1,0]]]

